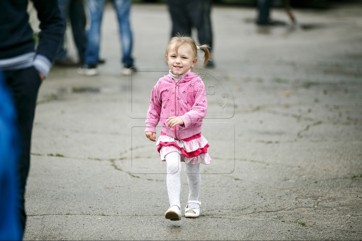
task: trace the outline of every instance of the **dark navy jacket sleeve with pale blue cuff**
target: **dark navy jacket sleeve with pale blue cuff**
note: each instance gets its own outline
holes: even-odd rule
[[[64,34],[64,21],[57,0],[32,0],[38,12],[41,29],[34,67],[44,76],[48,75],[51,62]]]

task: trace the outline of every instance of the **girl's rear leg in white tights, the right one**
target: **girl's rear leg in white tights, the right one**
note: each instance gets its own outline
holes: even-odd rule
[[[186,164],[185,163],[185,172],[188,177],[188,183],[190,188],[189,201],[199,201],[200,193],[200,184],[201,184],[201,174],[200,174],[200,164]],[[197,203],[189,203],[189,208],[198,208]]]

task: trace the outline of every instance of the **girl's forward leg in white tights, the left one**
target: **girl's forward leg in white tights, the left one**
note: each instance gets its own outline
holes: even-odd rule
[[[176,205],[181,207],[179,201],[179,194],[181,191],[180,173],[181,173],[181,161],[180,155],[177,152],[168,153],[165,156],[167,164],[167,193],[170,206]],[[180,208],[181,209],[181,208]]]

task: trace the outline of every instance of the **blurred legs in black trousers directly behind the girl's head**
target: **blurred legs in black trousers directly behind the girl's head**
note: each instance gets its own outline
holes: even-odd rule
[[[171,38],[177,33],[191,36],[192,28],[196,28],[200,45],[209,45],[212,52],[211,0],[168,0],[167,5],[172,20]],[[208,61],[206,66],[214,67],[214,62]]]

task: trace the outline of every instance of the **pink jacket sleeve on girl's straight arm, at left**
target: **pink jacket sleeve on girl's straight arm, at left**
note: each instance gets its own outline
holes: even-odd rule
[[[162,100],[161,97],[159,96],[156,84],[151,91],[151,100],[150,100],[150,106],[147,111],[145,132],[156,133],[156,126],[161,116],[161,104]]]

